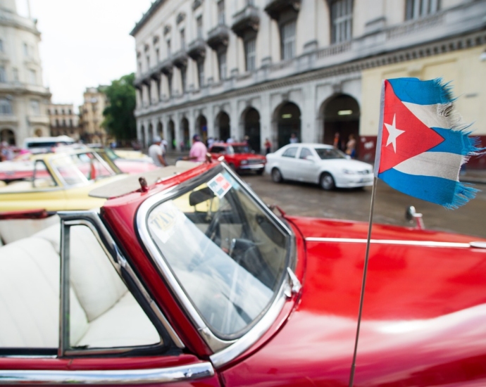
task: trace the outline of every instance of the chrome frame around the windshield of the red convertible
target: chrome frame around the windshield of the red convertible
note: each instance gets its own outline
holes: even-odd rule
[[[168,201],[170,198],[175,198],[184,194],[185,192],[189,191],[192,188],[195,188],[204,182],[208,182],[211,177],[216,176],[218,172],[228,172],[233,179],[242,188],[244,189],[245,193],[248,194],[251,199],[258,205],[261,210],[268,215],[268,219],[275,224],[278,229],[282,231],[283,234],[288,236],[287,239],[287,267],[290,267],[292,270],[295,269],[297,265],[297,255],[296,255],[296,248],[295,248],[295,236],[287,224],[282,222],[269,208],[265,203],[261,201],[258,196],[251,190],[251,188],[243,182],[235,173],[226,165],[222,163],[217,165],[211,170],[204,172],[203,174],[195,177],[193,179],[189,179],[187,182],[183,182],[178,186],[172,187],[163,191],[159,194],[151,196],[148,198],[147,201],[144,201],[142,205],[140,205],[139,209],[137,210],[136,220],[135,220],[135,229],[139,234],[139,238],[142,240],[145,248],[156,265],[158,272],[161,274],[163,279],[166,281],[166,284],[170,287],[171,291],[175,294],[175,297],[179,301],[180,305],[182,305],[183,310],[185,310],[187,316],[192,321],[196,329],[199,331],[199,334],[204,339],[206,344],[209,348],[213,351],[213,355],[211,356],[211,361],[215,364],[216,367],[220,367],[223,364],[230,362],[232,359],[237,357],[238,355],[242,354],[244,350],[250,348],[251,345],[258,341],[258,338],[261,338],[265,332],[270,329],[275,319],[280,314],[283,306],[285,305],[285,290],[288,287],[287,284],[287,276],[285,274],[282,275],[282,281],[280,283],[280,287],[274,292],[274,297],[272,302],[263,310],[263,316],[256,320],[256,322],[251,326],[251,328],[244,332],[242,336],[235,338],[234,340],[225,340],[222,339],[216,334],[211,331],[210,327],[204,319],[199,314],[197,308],[190,300],[189,296],[185,293],[185,290],[180,285],[179,281],[175,277],[172,269],[168,262],[166,262],[165,258],[161,255],[156,246],[156,243],[151,239],[151,235],[147,226],[147,220],[149,214],[156,205],[159,205],[165,201]]]

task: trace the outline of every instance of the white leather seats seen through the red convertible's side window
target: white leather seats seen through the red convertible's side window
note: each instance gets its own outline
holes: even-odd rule
[[[56,348],[59,224],[0,248],[0,347]],[[71,227],[70,343],[148,345],[158,332],[85,226]]]

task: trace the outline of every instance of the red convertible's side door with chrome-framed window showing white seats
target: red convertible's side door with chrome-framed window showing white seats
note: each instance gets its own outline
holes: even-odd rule
[[[220,386],[96,213],[2,246],[0,266],[2,384]]]

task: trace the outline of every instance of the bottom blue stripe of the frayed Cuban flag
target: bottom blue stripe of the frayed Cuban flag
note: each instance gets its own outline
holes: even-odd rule
[[[408,175],[403,172],[387,170],[378,175],[385,183],[404,194],[424,201],[458,208],[475,197],[478,189],[465,186],[461,182],[442,177]]]

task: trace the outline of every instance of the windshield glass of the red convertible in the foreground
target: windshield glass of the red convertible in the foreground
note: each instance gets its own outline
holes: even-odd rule
[[[216,336],[263,316],[282,284],[290,236],[221,169],[148,214],[151,239]]]

